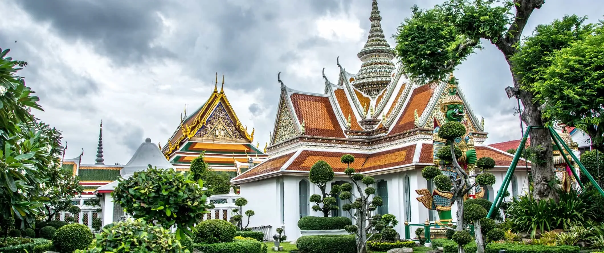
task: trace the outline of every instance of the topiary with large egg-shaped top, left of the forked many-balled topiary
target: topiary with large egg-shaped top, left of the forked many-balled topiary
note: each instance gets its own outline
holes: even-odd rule
[[[338,209],[336,204],[335,196],[340,192],[340,186],[334,185],[329,193],[326,192],[327,183],[332,181],[334,178],[332,166],[329,166],[325,161],[316,161],[315,164],[310,167],[308,173],[308,179],[310,183],[315,184],[321,190],[321,195],[313,194],[310,195],[310,202],[314,202],[316,205],[312,206],[313,211],[322,211],[323,217],[329,217],[332,210]]]

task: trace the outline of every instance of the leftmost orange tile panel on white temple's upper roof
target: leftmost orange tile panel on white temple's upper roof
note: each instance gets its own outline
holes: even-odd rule
[[[304,119],[305,135],[345,137],[329,98],[300,93],[294,93],[290,98],[298,116],[298,122],[302,123]]]

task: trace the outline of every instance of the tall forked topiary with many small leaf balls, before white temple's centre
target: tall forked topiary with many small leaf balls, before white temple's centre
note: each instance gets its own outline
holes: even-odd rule
[[[347,199],[350,204],[344,204],[342,210],[348,211],[350,216],[355,220],[354,225],[347,225],[344,229],[350,234],[355,234],[356,241],[356,252],[365,253],[367,252],[367,241],[373,237],[367,237],[367,233],[371,231],[376,225],[371,217],[371,211],[376,210],[377,207],[381,206],[384,202],[380,196],[375,195],[376,189],[371,186],[375,183],[375,180],[371,176],[364,176],[361,173],[355,173],[355,169],[350,167],[351,163],[355,162],[355,157],[352,155],[342,155],[340,158],[342,163],[346,164],[344,173],[350,178],[350,181],[355,185],[356,195],[352,193],[352,184],[342,184],[339,198],[342,200]],[[361,188],[361,185],[365,185],[365,190]],[[369,199],[373,196],[373,199]],[[355,201],[350,199],[354,198]],[[354,211],[353,211],[354,210]],[[384,230],[387,230],[385,228]],[[384,233],[384,230],[382,233]],[[395,231],[396,232],[396,231]],[[383,236],[383,235],[382,235]],[[384,239],[384,237],[382,237]]]

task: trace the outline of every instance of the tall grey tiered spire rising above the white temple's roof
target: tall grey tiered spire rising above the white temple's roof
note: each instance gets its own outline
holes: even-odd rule
[[[390,84],[391,73],[394,70],[394,51],[385,39],[380,21],[382,16],[377,9],[377,0],[373,0],[371,8],[371,29],[367,43],[357,57],[363,61],[352,85],[365,94],[375,98]]]

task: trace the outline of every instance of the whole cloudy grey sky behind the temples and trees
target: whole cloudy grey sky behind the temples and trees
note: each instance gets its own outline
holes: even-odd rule
[[[379,0],[391,35],[417,4],[442,0]],[[103,120],[105,164],[127,163],[144,138],[166,143],[187,104],[194,111],[225,75],[225,92],[261,148],[272,131],[277,72],[293,89],[323,92],[321,69],[336,82],[336,57],[349,72],[367,39],[369,0],[4,0],[0,48],[30,65],[19,72],[40,96],[36,116],[63,131],[66,158],[85,150],[94,163]],[[564,14],[602,17],[604,1],[547,0],[528,22]],[[518,139],[516,101],[507,99],[507,64],[494,46],[456,72],[471,107],[485,118],[488,143]]]

